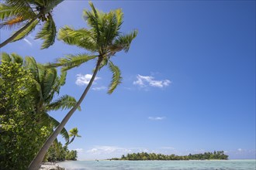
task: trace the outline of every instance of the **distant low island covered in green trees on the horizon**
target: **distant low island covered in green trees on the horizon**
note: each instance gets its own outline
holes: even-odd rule
[[[126,161],[176,160],[177,161],[177,160],[211,160],[211,159],[227,160],[228,155],[225,155],[224,151],[213,151],[213,152],[205,152],[203,154],[194,154],[194,155],[189,154],[184,156],[162,155],[162,154],[141,152],[141,153],[127,154],[126,156],[122,155],[121,158],[111,158],[108,160],[110,161],[112,160],[126,160]]]

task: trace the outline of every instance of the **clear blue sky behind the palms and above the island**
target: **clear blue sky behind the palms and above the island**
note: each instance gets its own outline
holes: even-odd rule
[[[112,158],[148,151],[187,155],[226,151],[230,158],[255,158],[254,1],[95,1],[104,12],[123,8],[123,32],[137,29],[129,53],[112,59],[123,83],[106,93],[111,80],[102,69],[81,111],[67,123],[78,127],[78,159]],[[64,1],[54,10],[57,29],[87,27],[87,1]],[[36,29],[37,30],[37,29]],[[1,30],[1,41],[12,33]],[[2,52],[55,61],[84,52],[57,41],[40,50],[35,32]],[[77,99],[94,62],[67,74],[61,94]],[[61,121],[67,110],[50,113]]]

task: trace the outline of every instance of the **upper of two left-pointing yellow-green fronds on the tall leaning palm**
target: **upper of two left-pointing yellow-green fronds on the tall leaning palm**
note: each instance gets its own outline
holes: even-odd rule
[[[58,39],[63,40],[69,45],[75,45],[91,52],[95,52],[96,43],[92,32],[87,29],[74,30],[69,26],[61,28],[58,34]]]

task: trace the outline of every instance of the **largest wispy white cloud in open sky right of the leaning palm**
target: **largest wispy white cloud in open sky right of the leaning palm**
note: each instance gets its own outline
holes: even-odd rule
[[[138,85],[139,87],[168,87],[170,85],[170,80],[154,80],[154,76],[141,76],[137,75],[137,80],[133,81],[134,85]]]

